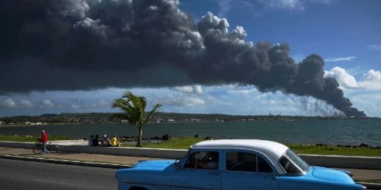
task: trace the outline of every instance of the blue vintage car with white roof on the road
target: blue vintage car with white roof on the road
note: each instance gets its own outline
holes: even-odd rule
[[[120,190],[360,190],[347,171],[309,166],[267,140],[209,140],[180,160],[142,161],[116,172]]]

